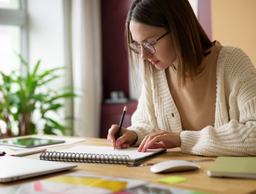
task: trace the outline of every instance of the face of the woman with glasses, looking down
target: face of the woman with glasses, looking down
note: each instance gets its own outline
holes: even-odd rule
[[[166,33],[163,28],[148,26],[132,20],[130,21],[130,31],[133,41],[139,45],[145,42],[152,44]],[[176,54],[170,33],[158,40],[154,47],[156,49],[154,54],[141,47],[141,58],[149,60],[159,70],[164,70],[175,62]]]

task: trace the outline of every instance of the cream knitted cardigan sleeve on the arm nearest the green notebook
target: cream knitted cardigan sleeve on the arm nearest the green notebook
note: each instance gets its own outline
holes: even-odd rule
[[[220,86],[225,88],[222,90],[224,97],[219,100],[224,107],[221,109],[224,111],[219,113],[224,122],[215,128],[207,126],[201,131],[183,131],[183,153],[205,156],[256,155],[256,69],[241,49],[236,48],[228,55],[225,64],[222,64],[227,65],[224,84]]]

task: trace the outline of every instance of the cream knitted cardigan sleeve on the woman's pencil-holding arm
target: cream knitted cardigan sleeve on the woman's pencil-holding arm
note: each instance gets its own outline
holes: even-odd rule
[[[138,140],[132,146],[141,144],[146,135],[159,131],[157,125],[152,88],[150,79],[144,79],[142,84],[141,96],[138,100],[138,106],[131,118],[132,126],[127,129],[132,130],[138,135]]]

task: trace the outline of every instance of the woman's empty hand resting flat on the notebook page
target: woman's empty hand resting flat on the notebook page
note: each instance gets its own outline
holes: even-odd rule
[[[156,133],[147,135],[141,142],[138,151],[145,152],[147,149],[174,148],[180,146],[181,141],[179,133],[161,130]]]

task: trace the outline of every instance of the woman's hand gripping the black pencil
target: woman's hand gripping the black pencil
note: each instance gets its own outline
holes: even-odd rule
[[[136,142],[138,136],[135,132],[121,128],[120,137],[116,140],[115,137],[117,135],[119,126],[112,125],[111,128],[108,130],[108,143],[112,146],[120,149],[129,147],[131,144]]]

